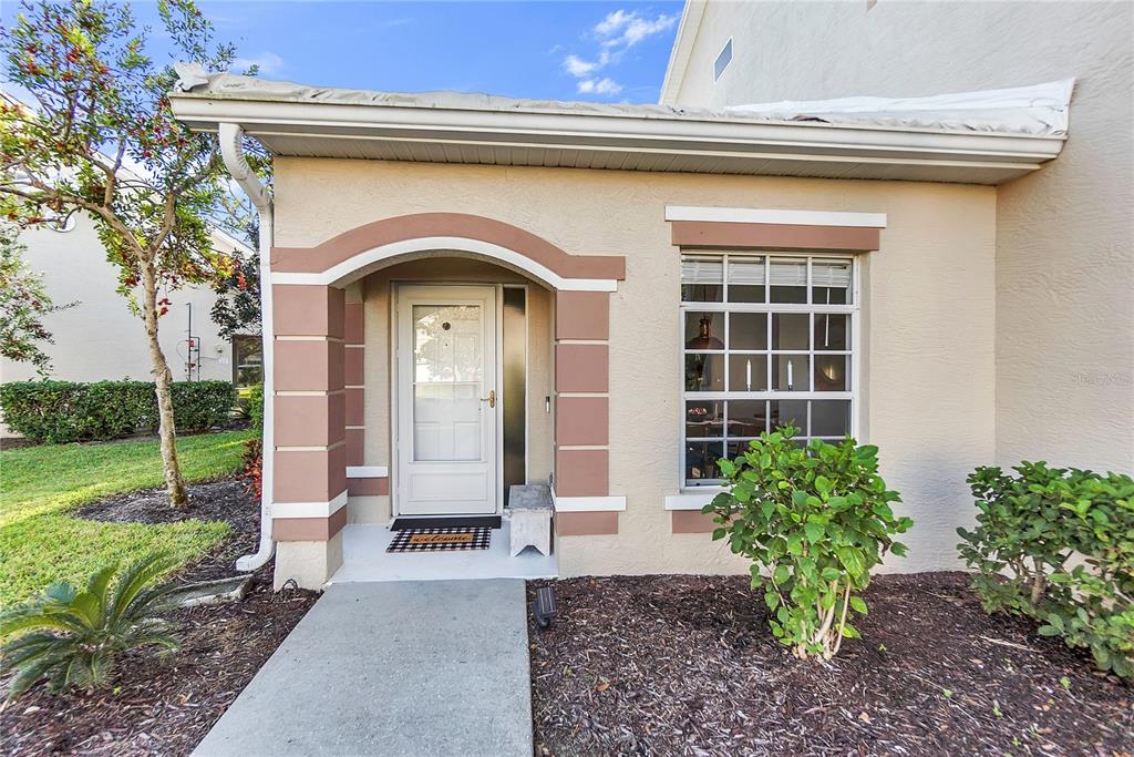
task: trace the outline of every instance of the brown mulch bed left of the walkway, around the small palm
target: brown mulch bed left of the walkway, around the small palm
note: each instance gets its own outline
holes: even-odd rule
[[[177,579],[236,574],[237,556],[255,549],[259,504],[235,479],[189,486],[191,507],[172,511],[154,489],[93,503],[75,514],[92,520],[162,523],[196,518],[228,521],[234,537]],[[187,755],[311,609],[314,591],[272,592],[272,563],[254,573],[239,603],[179,609],[180,650],[169,661],[129,655],[112,691],[51,696],[35,689],[0,710],[5,755]]]

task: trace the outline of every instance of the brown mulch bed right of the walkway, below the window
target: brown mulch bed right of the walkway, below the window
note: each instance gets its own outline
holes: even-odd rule
[[[775,640],[746,577],[555,581],[559,615],[530,629],[536,754],[1134,752],[1134,687],[968,582],[875,579],[863,639],[823,664]]]

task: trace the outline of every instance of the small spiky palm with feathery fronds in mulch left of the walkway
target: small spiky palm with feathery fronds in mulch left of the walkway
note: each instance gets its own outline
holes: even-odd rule
[[[0,671],[15,672],[8,698],[39,681],[46,681],[52,692],[103,688],[124,653],[176,649],[169,624],[159,617],[174,586],[158,582],[175,565],[151,555],[117,581],[118,566],[110,565],[91,575],[84,591],[56,582],[36,599],[8,611],[0,620]]]

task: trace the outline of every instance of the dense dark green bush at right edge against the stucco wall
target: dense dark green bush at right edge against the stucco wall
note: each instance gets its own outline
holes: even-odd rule
[[[1134,480],[1042,462],[1013,470],[968,477],[980,513],[957,529],[985,609],[1032,617],[1134,678]]]

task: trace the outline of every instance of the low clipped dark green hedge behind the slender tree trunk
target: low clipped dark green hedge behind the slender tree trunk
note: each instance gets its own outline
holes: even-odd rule
[[[175,381],[171,394],[178,431],[220,426],[236,403],[228,381]],[[9,429],[51,444],[118,439],[159,426],[152,381],[14,381],[0,385],[0,410]]]

